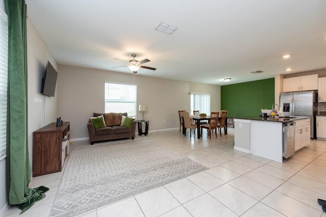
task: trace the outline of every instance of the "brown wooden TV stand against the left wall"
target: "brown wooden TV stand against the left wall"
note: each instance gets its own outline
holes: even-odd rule
[[[53,122],[33,133],[33,177],[61,171],[66,154],[62,142],[69,133],[70,122],[59,127]]]

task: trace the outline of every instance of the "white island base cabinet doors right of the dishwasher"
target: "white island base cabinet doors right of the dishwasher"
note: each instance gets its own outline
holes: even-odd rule
[[[295,120],[295,151],[310,143],[310,118]]]

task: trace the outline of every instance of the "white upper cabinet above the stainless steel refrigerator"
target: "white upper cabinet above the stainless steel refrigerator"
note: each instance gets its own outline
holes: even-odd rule
[[[283,91],[301,91],[318,89],[318,74],[283,79]]]

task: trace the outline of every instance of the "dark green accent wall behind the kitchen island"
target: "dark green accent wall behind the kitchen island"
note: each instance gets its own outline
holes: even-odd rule
[[[221,86],[221,110],[228,117],[261,115],[260,109],[271,109],[274,102],[274,78]]]

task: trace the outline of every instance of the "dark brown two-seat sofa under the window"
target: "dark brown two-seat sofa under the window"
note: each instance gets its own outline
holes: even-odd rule
[[[124,139],[130,137],[131,139],[134,139],[137,121],[133,121],[131,128],[120,126],[121,115],[127,116],[127,113],[106,113],[106,114],[94,113],[93,114],[94,117],[100,115],[104,116],[105,125],[106,125],[105,128],[95,130],[91,120],[89,120],[87,124],[91,145],[93,145],[95,142],[103,142],[103,141],[115,140],[115,139]],[[110,117],[111,119],[108,117]],[[118,123],[119,118],[120,118],[120,123]]]

